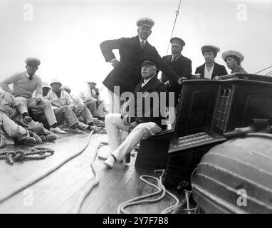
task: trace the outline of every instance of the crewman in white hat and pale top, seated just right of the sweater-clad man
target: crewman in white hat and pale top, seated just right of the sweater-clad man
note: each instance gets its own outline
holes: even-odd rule
[[[50,84],[52,90],[46,95],[46,99],[50,100],[54,108],[61,108],[68,105],[75,113],[78,120],[83,120],[83,123],[93,126],[93,117],[86,105],[75,105],[70,99],[70,95],[66,91],[61,90],[61,81],[53,79]]]

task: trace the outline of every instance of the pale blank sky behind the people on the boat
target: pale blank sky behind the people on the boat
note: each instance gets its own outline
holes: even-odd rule
[[[25,4],[33,5],[33,21],[23,18]],[[101,83],[112,69],[99,44],[136,36],[135,21],[142,16],[155,21],[149,42],[164,56],[178,4],[179,0],[0,0],[0,80],[24,71],[24,60],[32,56],[41,60],[37,74],[43,81],[58,78],[78,93],[84,81]],[[246,6],[246,21],[238,19],[239,4]],[[182,0],[174,36],[186,42],[182,53],[192,59],[193,73],[204,63],[204,44],[221,48],[216,57],[221,64],[222,51],[241,51],[242,65],[255,73],[272,65],[271,21],[269,0]]]

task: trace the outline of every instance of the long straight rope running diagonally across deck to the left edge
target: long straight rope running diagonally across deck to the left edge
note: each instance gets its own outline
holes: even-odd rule
[[[64,164],[66,164],[68,161],[72,160],[74,157],[77,157],[78,155],[82,154],[84,152],[84,150],[88,147],[89,142],[90,142],[90,138],[92,137],[93,133],[94,133],[94,131],[92,130],[90,132],[89,136],[88,136],[88,140],[87,140],[86,144],[84,145],[84,147],[81,150],[79,150],[75,155],[71,155],[70,157],[66,158],[66,160],[64,160],[63,162],[61,162],[61,164],[56,165],[55,167],[53,167],[51,170],[48,170],[46,173],[44,173],[40,177],[36,177],[36,179],[34,179],[31,182],[28,182],[26,185],[24,185],[23,187],[21,187],[19,190],[11,191],[8,196],[0,198],[0,203],[4,202],[6,199],[9,199],[10,197],[16,195],[17,193],[21,192],[22,190],[26,189],[27,187],[35,184],[39,180],[42,180],[44,177],[47,177],[52,172],[55,172],[56,170],[58,170],[58,168],[60,168]],[[41,153],[41,151],[40,151],[40,153]]]

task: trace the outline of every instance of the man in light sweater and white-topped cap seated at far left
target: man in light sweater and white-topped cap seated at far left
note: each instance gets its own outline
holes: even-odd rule
[[[51,103],[43,98],[41,78],[35,74],[41,61],[37,58],[27,58],[25,62],[26,71],[16,73],[13,76],[6,78],[0,83],[1,88],[14,95],[16,100],[20,100],[25,108],[43,110],[50,126],[49,130],[53,133],[63,133],[63,130],[56,127],[57,120],[53,113],[53,108]],[[9,88],[9,85],[12,83],[14,84],[13,90]],[[36,90],[36,97],[33,98],[32,95],[34,90]]]

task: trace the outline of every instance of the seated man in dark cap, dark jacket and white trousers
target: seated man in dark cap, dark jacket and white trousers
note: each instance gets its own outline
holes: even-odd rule
[[[132,100],[132,103],[135,104],[135,109],[132,116],[117,113],[110,113],[105,116],[105,128],[112,153],[104,163],[110,168],[113,167],[114,162],[122,160],[128,152],[131,152],[140,140],[150,138],[150,136],[156,135],[166,128],[166,125],[162,124],[164,113],[160,113],[159,104],[160,96],[162,92],[167,93],[167,88],[157,79],[159,62],[156,58],[145,57],[142,58],[141,63],[142,80],[134,91],[135,99]],[[150,99],[154,93],[158,95],[159,100]],[[149,107],[145,107],[145,100],[147,99],[152,100]],[[158,111],[157,116],[155,114],[156,109]],[[120,130],[131,131],[122,143],[120,143]]]

